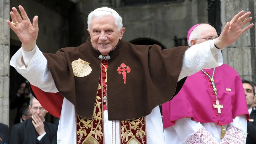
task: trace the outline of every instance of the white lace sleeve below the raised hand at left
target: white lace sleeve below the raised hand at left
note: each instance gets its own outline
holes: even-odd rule
[[[23,51],[21,47],[12,56],[10,65],[26,78],[30,84],[40,88],[42,91],[59,92],[47,67],[47,60],[37,46],[29,52]]]

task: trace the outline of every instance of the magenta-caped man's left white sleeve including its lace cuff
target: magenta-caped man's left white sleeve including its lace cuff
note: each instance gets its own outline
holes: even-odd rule
[[[175,122],[173,126],[183,144],[191,143],[212,143],[218,144],[217,140],[208,132],[201,123],[191,120],[191,118],[182,118]]]

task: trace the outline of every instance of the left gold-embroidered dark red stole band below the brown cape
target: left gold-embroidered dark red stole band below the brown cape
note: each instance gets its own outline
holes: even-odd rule
[[[96,96],[93,118],[77,115],[77,144],[103,144],[102,98]]]

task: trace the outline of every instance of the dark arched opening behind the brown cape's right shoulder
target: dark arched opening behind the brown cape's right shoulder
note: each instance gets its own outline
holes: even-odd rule
[[[161,44],[160,42],[153,40],[151,38],[136,38],[136,39],[131,40],[130,43],[137,44],[137,45],[157,44],[157,45],[161,46],[162,49],[166,49],[166,47],[163,44]]]

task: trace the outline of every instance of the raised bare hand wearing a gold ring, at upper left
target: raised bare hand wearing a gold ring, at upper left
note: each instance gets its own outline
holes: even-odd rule
[[[7,20],[7,23],[19,37],[22,43],[23,50],[31,51],[36,46],[36,40],[38,35],[38,17],[35,16],[33,18],[32,25],[24,8],[20,5],[19,9],[21,11],[21,15],[15,7],[12,8],[12,12],[10,12],[12,22],[10,20]],[[21,18],[21,16],[23,19]]]

